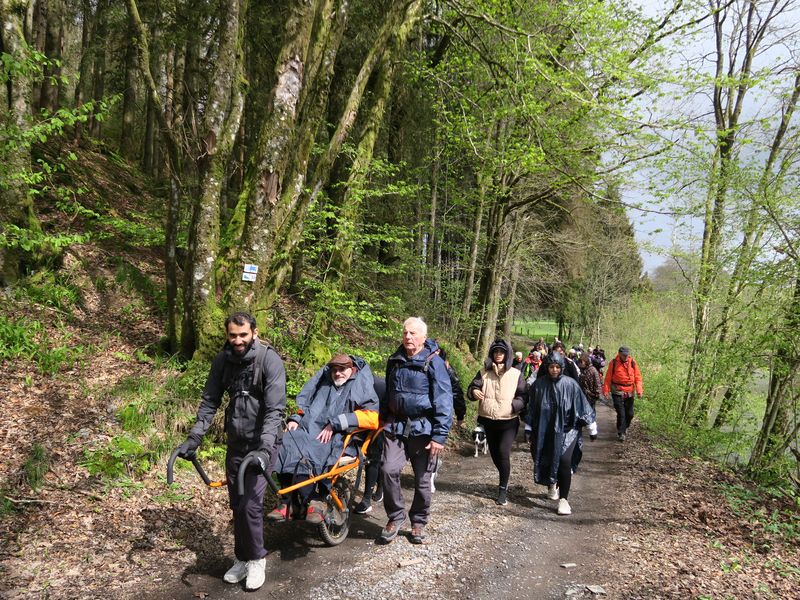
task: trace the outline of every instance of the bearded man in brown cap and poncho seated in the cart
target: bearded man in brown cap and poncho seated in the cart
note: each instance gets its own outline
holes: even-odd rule
[[[331,469],[342,455],[348,429],[378,428],[378,397],[372,371],[358,356],[336,354],[317,371],[297,395],[297,414],[289,417],[275,462],[281,487],[299,483]],[[305,519],[322,521],[322,489],[318,482],[281,496],[269,514],[271,520]],[[291,496],[291,498],[289,497]]]

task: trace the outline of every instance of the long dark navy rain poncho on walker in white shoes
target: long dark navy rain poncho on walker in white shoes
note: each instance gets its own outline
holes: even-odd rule
[[[527,423],[535,445],[533,480],[542,485],[556,482],[561,455],[577,439],[581,427],[595,422],[595,412],[578,382],[563,374],[564,357],[554,352],[550,362],[561,365],[556,379],[549,373],[531,386]]]

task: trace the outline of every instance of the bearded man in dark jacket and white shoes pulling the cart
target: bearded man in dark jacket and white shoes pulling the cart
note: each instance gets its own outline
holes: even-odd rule
[[[250,314],[230,315],[225,319],[225,332],[227,341],[211,363],[196,422],[178,448],[178,456],[190,460],[195,456],[227,392],[225,473],[233,511],[235,560],[223,580],[246,580],[245,587],[255,590],[265,579],[265,475],[286,409],[286,372],[275,349],[258,339],[256,320]],[[254,466],[245,475],[244,495],[240,496],[236,480],[245,458],[254,459]]]

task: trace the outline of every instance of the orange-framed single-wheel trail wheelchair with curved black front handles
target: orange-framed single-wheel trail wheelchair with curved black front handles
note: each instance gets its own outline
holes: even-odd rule
[[[322,541],[328,546],[338,546],[345,539],[350,532],[350,515],[351,504],[355,491],[361,485],[361,477],[364,472],[364,467],[367,464],[367,451],[370,444],[375,441],[382,428],[379,429],[353,429],[349,431],[344,438],[342,451],[339,458],[334,465],[324,473],[304,479],[294,485],[284,488],[278,487],[273,477],[267,477],[267,483],[278,496],[291,494],[292,492],[305,487],[307,485],[316,486],[317,483],[325,480],[327,481],[328,494],[324,498],[325,510],[322,515],[322,521],[317,525]],[[355,450],[356,455],[351,456],[347,454],[347,450]],[[172,485],[174,480],[173,470],[175,460],[178,458],[178,450],[176,449],[169,457],[167,463],[167,484]],[[211,481],[206,474],[197,456],[189,459],[194,465],[195,470],[200,475],[208,487],[211,488],[224,488],[227,487],[225,481]],[[246,458],[239,467],[239,474],[236,480],[237,492],[241,495],[244,494],[244,477],[247,468],[253,462],[253,458]],[[355,477],[352,472],[355,471]]]

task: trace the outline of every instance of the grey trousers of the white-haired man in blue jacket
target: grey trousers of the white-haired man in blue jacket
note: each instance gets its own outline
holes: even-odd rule
[[[390,521],[405,518],[406,504],[400,487],[400,471],[407,461],[414,470],[414,499],[408,511],[412,525],[427,525],[431,514],[431,464],[430,451],[425,450],[431,441],[423,435],[409,439],[384,434],[383,442],[383,507]]]

